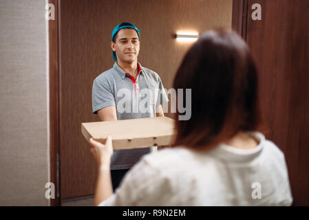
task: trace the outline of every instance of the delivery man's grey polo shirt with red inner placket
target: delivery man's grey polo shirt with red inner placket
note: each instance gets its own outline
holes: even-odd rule
[[[92,111],[116,106],[118,120],[156,117],[156,106],[168,102],[160,76],[138,63],[134,78],[115,62],[111,69],[97,76],[92,86]],[[142,127],[140,128],[142,129]],[[154,147],[151,147],[154,148]],[[111,170],[131,168],[151,148],[114,151]]]

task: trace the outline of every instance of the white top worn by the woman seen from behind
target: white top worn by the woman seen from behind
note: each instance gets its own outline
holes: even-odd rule
[[[251,135],[259,145],[249,150],[219,144],[145,155],[99,206],[290,206],[284,154],[262,133]]]

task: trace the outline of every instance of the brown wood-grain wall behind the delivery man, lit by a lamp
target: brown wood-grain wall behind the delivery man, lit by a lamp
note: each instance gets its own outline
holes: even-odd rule
[[[191,43],[173,39],[178,30],[231,28],[232,1],[60,1],[60,148],[61,199],[92,195],[96,163],[81,134],[92,115],[94,78],[111,68],[110,37],[120,22],[142,31],[138,61],[171,88],[175,72]],[[166,114],[171,116],[171,114]]]

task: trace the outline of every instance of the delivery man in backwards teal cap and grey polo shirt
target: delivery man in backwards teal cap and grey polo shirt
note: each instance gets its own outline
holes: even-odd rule
[[[117,25],[111,33],[111,50],[116,62],[92,86],[93,113],[101,121],[164,116],[162,104],[169,100],[160,76],[138,63],[140,30],[129,22]],[[151,151],[156,146],[114,152],[110,167],[114,190],[127,170]]]

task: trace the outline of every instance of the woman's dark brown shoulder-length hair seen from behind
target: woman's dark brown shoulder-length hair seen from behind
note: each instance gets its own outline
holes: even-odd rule
[[[202,34],[184,56],[173,87],[191,89],[192,96],[191,118],[176,120],[173,146],[209,148],[262,124],[257,69],[235,32]]]

